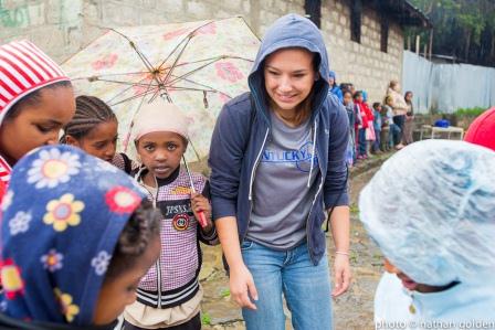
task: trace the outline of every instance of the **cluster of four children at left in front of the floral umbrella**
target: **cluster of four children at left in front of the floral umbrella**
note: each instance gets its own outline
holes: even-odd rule
[[[140,108],[137,163],[116,153],[110,107],[94,96],[74,102],[69,77],[41,50],[12,42],[0,61],[0,328],[113,329],[124,313],[126,330],[200,329],[199,242],[219,241],[208,180],[181,169],[181,109],[160,97]]]

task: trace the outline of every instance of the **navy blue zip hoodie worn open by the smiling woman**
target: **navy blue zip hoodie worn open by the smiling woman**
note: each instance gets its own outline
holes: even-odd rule
[[[346,148],[348,119],[337,97],[328,95],[328,56],[322,33],[308,19],[287,14],[268,29],[249,76],[251,93],[228,102],[217,120],[210,149],[211,200],[213,219],[235,216],[240,241],[249,230],[252,188],[256,167],[271,135],[271,116],[263,79],[263,61],[277,50],[303,47],[318,61],[318,79],[314,84],[310,116],[313,153],[318,163],[318,189],[306,222],[309,256],[316,265],[324,256],[325,209],[347,205]],[[316,152],[316,153],[315,153]],[[289,182],[287,182],[289,184]],[[325,207],[325,209],[324,209]]]

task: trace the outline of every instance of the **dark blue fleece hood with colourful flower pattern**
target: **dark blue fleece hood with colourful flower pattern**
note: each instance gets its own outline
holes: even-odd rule
[[[124,172],[69,146],[20,160],[2,201],[2,312],[92,324],[117,239],[144,198]]]

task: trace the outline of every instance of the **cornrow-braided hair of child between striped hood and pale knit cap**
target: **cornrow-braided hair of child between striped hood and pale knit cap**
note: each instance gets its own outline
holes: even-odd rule
[[[81,95],[75,98],[75,114],[65,125],[61,142],[65,143],[66,136],[75,139],[85,137],[98,124],[117,120],[114,111],[102,99],[95,96]]]

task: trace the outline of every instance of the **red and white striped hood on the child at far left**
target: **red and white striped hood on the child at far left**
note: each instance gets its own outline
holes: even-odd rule
[[[25,95],[70,81],[62,68],[29,41],[0,46],[0,125],[9,109]]]

